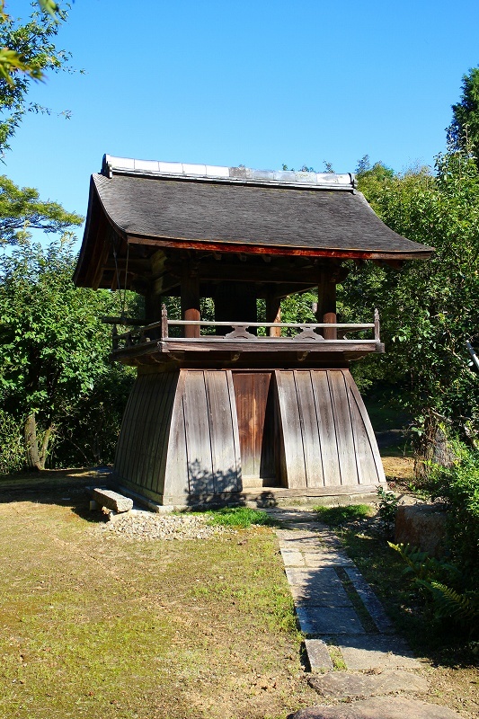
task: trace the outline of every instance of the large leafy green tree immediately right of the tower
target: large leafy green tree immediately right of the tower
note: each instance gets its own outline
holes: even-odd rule
[[[406,262],[402,271],[353,269],[342,295],[359,321],[364,307],[379,308],[386,356],[377,377],[396,383],[428,456],[440,428],[479,436],[479,377],[465,348],[479,332],[479,173],[470,157],[451,152],[438,157],[435,174],[386,176],[366,191],[386,225],[436,247],[432,259]]]

